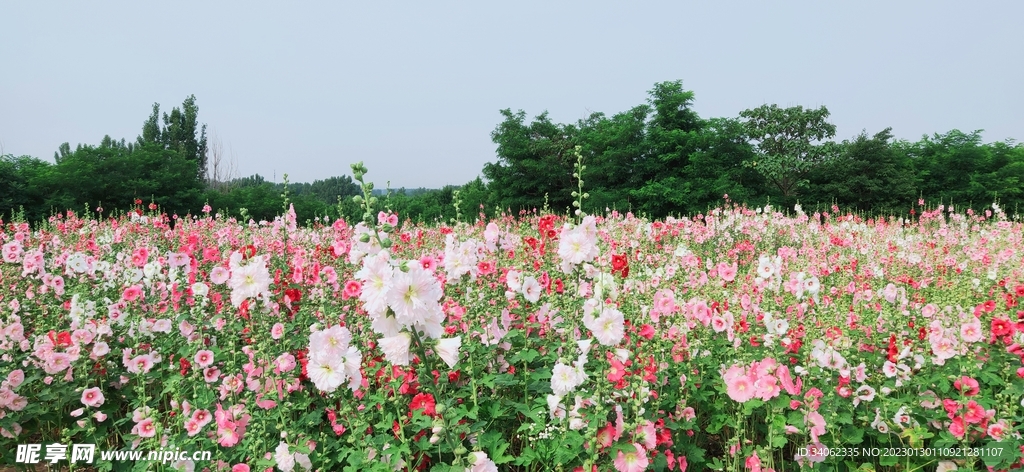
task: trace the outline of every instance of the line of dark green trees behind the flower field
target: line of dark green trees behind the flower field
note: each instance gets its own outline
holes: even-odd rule
[[[655,84],[645,103],[611,116],[594,113],[555,123],[501,111],[492,132],[496,160],[482,177],[439,189],[375,189],[384,206],[416,221],[471,220],[479,213],[568,211],[582,180],[584,211],[651,217],[695,215],[723,202],[907,215],[918,199],[983,208],[1024,207],[1024,144],[983,142],[981,131],[952,130],[918,141],[891,129],[836,141],[825,106],[765,104],[736,117],[701,118],[681,81]],[[41,221],[74,210],[128,211],[135,202],[168,215],[209,205],[229,215],[272,219],[286,199],[300,220],[354,218],[359,187],[348,175],[313,182],[269,182],[224,172],[208,142],[195,96],[170,114],[154,104],[132,142],[104,136],[97,145],[63,143],[52,163],[0,157],[0,215]],[[583,167],[578,167],[582,165]],[[582,172],[579,171],[582,169]]]

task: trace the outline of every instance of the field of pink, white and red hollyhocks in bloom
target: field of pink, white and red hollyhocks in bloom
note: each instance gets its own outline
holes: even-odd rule
[[[0,453],[214,458],[100,470],[1020,468],[1024,225],[918,212],[4,222]]]

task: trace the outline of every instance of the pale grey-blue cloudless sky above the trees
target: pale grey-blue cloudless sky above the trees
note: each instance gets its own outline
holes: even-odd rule
[[[1024,2],[838,3],[4,1],[0,154],[131,141],[195,94],[237,176],[440,187],[496,161],[502,109],[574,123],[675,80],[705,118],[1024,140]]]

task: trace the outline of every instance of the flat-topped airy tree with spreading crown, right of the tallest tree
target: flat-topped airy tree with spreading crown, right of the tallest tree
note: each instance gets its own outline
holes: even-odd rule
[[[748,136],[757,142],[759,156],[750,161],[786,200],[806,185],[807,174],[835,155],[835,143],[821,142],[836,135],[828,123],[828,109],[780,109],[765,104],[739,113],[745,118]]]

